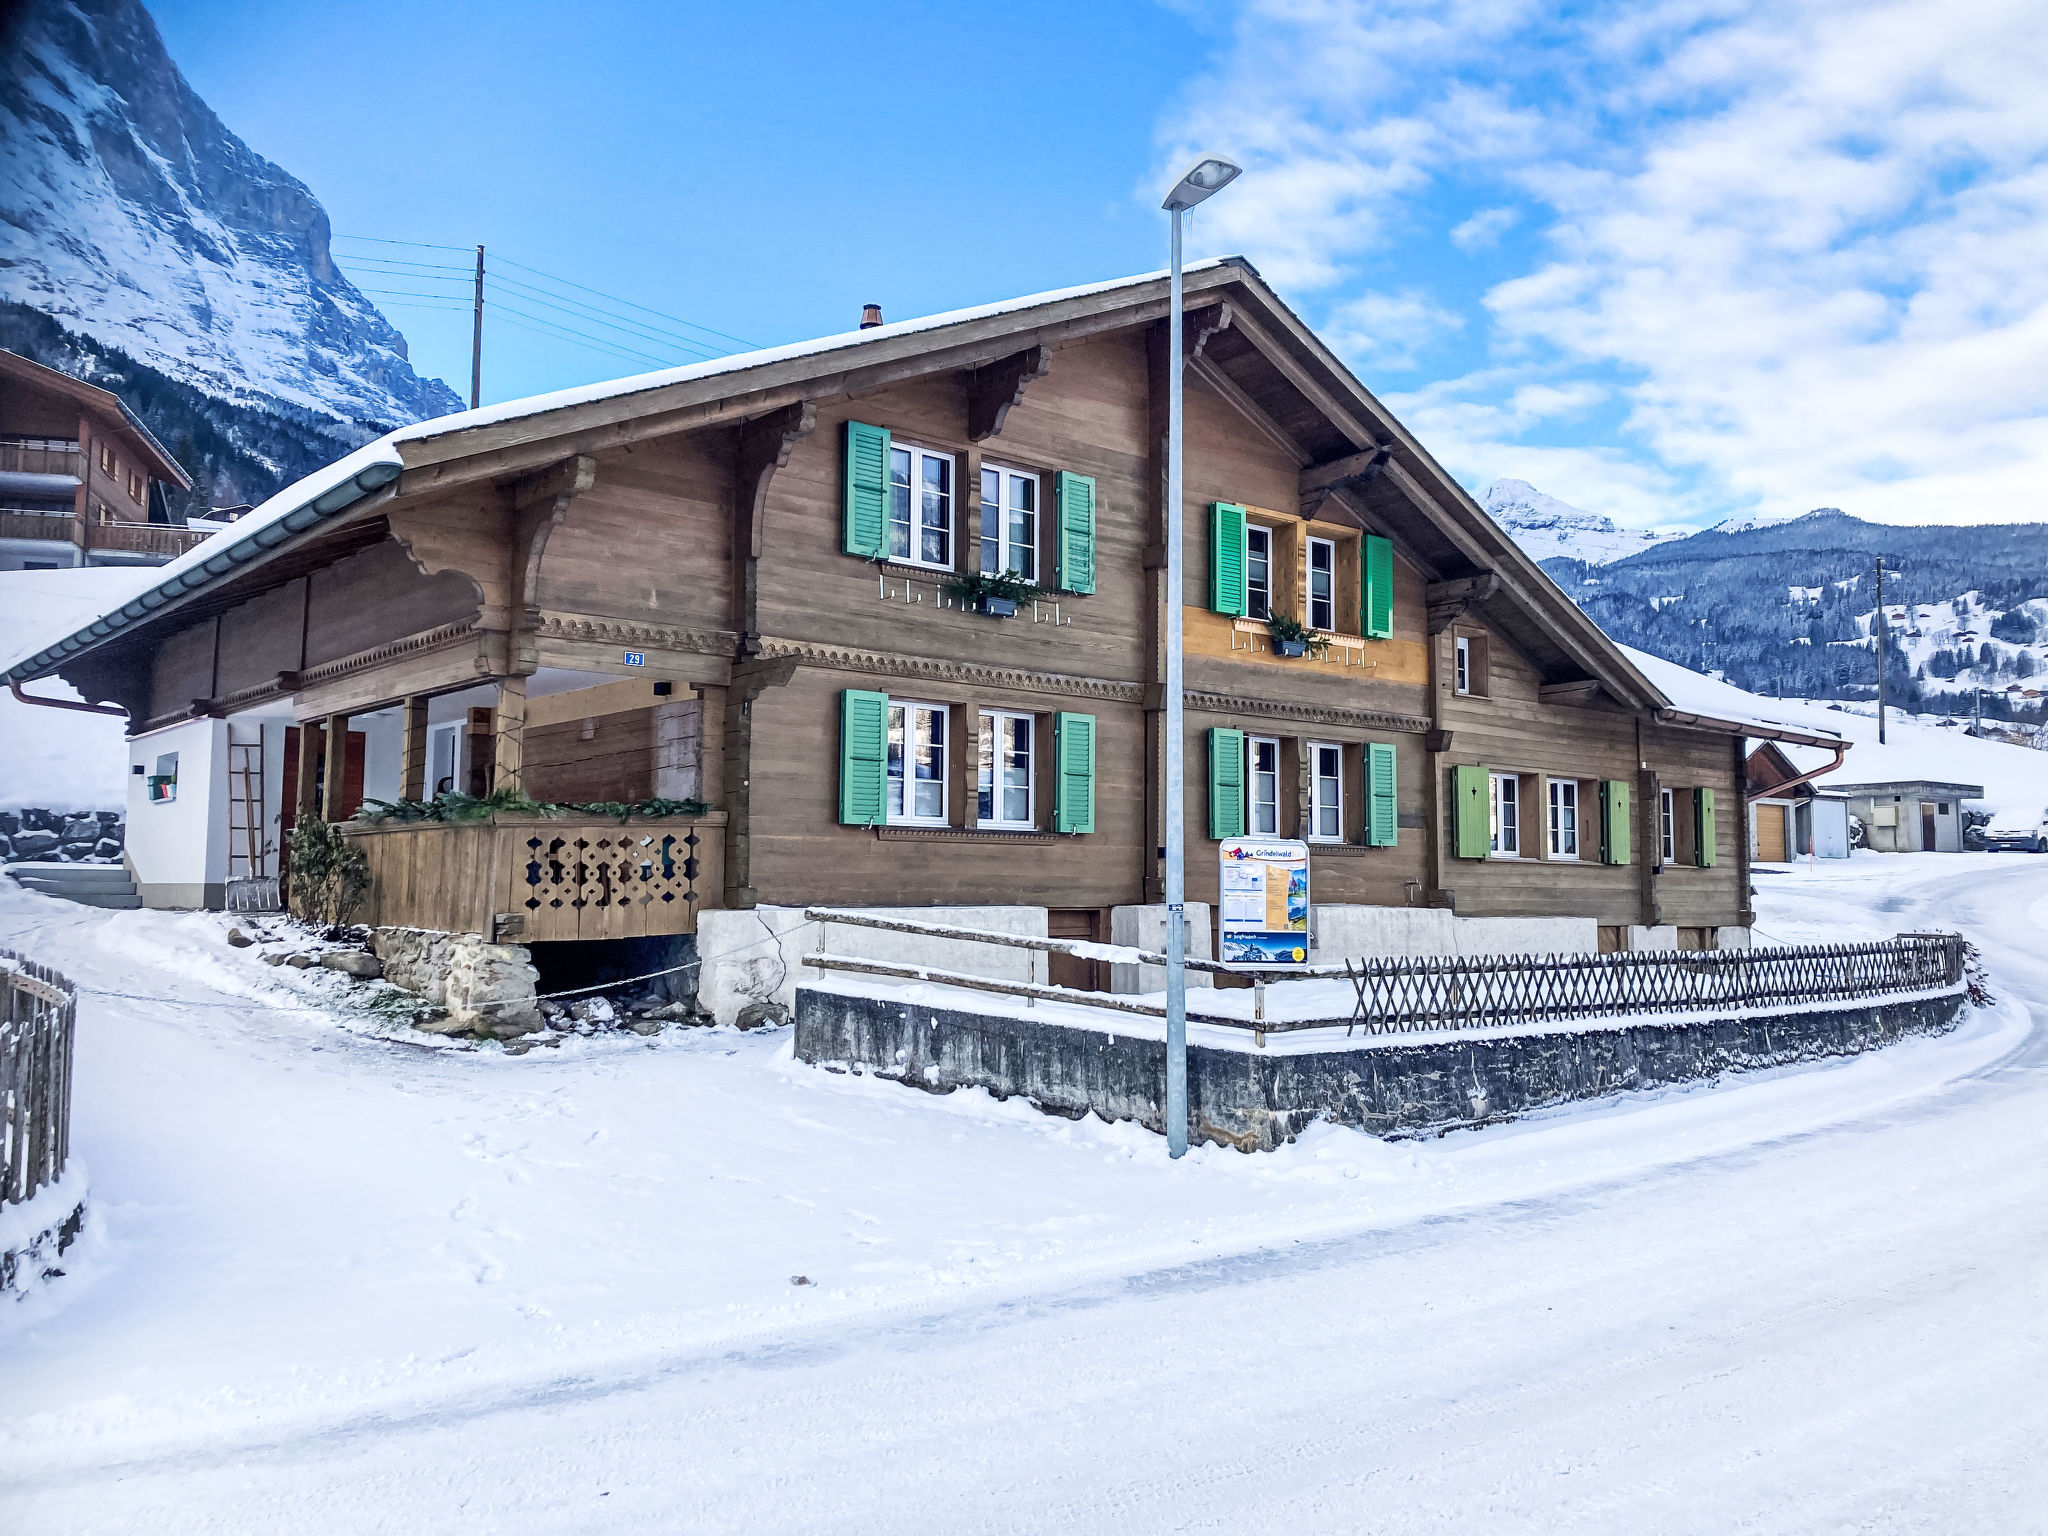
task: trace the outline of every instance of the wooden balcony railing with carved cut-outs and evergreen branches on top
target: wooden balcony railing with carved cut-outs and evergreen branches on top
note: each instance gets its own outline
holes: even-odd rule
[[[350,821],[371,885],[354,922],[504,944],[694,934],[725,905],[725,811]]]

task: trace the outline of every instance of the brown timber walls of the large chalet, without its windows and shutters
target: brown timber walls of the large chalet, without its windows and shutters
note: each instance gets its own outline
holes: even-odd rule
[[[1217,885],[1204,762],[1237,733],[1270,748],[1278,836],[1327,834],[1319,807],[1341,778],[1341,821],[1313,844],[1317,903],[1747,924],[1741,731],[1675,719],[1247,264],[1190,270],[1188,305],[1180,594],[1163,580],[1165,281],[1141,279],[410,428],[389,444],[397,477],[346,514],[43,670],[135,729],[281,700],[299,721],[393,705],[414,721],[426,696],[489,684],[469,727],[485,778],[549,799],[653,795],[662,731],[690,731],[690,782],[717,807],[690,823],[717,840],[694,903],[1028,903],[1081,924],[1161,899],[1161,618],[1180,602],[1190,899]],[[848,553],[848,424],[950,477],[946,569]],[[981,506],[993,469],[1036,485],[1044,596],[1016,616],[948,590],[997,522]],[[1081,512],[1055,489],[1083,483],[1087,590],[1061,590]],[[1309,561],[1335,561],[1319,655],[1284,657],[1262,621],[1217,610],[1219,504],[1266,530],[1276,610],[1305,614]],[[1384,633],[1364,633],[1368,541],[1391,551]],[[1483,662],[1464,692],[1460,637]],[[569,672],[573,690],[528,688]],[[842,819],[848,690],[944,721],[942,813]],[[1028,815],[991,825],[977,772],[983,737],[1018,729],[1001,717],[1032,723],[1034,782]],[[1079,791],[1055,780],[1079,770],[1053,762],[1053,737],[1083,719],[1090,815],[1071,831],[1053,805]],[[408,795],[422,754],[408,727]],[[1386,840],[1368,836],[1370,762],[1393,770]],[[1458,766],[1524,784],[1518,856],[1458,856]],[[1544,825],[1552,780],[1575,786],[1569,856]],[[1630,856],[1602,862],[1585,819],[1616,782]],[[1665,788],[1704,807],[1704,856],[1663,856]],[[369,834],[373,920],[504,930],[528,831]],[[526,936],[559,936],[543,928]]]

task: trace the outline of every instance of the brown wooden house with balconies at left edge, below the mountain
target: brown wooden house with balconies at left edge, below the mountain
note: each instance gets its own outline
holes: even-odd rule
[[[0,350],[0,571],[176,559],[209,530],[164,485],[193,481],[119,395]]]

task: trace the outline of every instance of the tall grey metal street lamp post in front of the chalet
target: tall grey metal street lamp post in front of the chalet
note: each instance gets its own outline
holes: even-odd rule
[[[1174,254],[1169,262],[1167,365],[1165,365],[1165,1149],[1180,1157],[1188,1151],[1188,825],[1186,766],[1182,750],[1182,426],[1180,375],[1180,221],[1182,215],[1210,193],[1237,180],[1243,168],[1221,156],[1202,156],[1174,182],[1163,207],[1174,215]]]

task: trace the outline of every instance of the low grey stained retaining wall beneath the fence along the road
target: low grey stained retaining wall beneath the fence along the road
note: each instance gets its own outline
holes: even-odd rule
[[[1270,1051],[1251,1049],[1249,1038],[1227,1047],[1190,1044],[1190,1135],[1268,1151],[1315,1120],[1382,1137],[1473,1126],[1636,1087],[1847,1057],[1909,1034],[1950,1030],[1962,1008],[1958,989],[1851,1008],[1495,1032],[1417,1044],[1335,1032],[1315,1044],[1274,1036]],[[801,1061],[848,1063],[928,1092],[1020,1094],[1055,1114],[1094,1112],[1163,1133],[1165,1044],[1155,1028],[1135,1036],[1112,1028],[981,1016],[821,987],[797,991]]]

